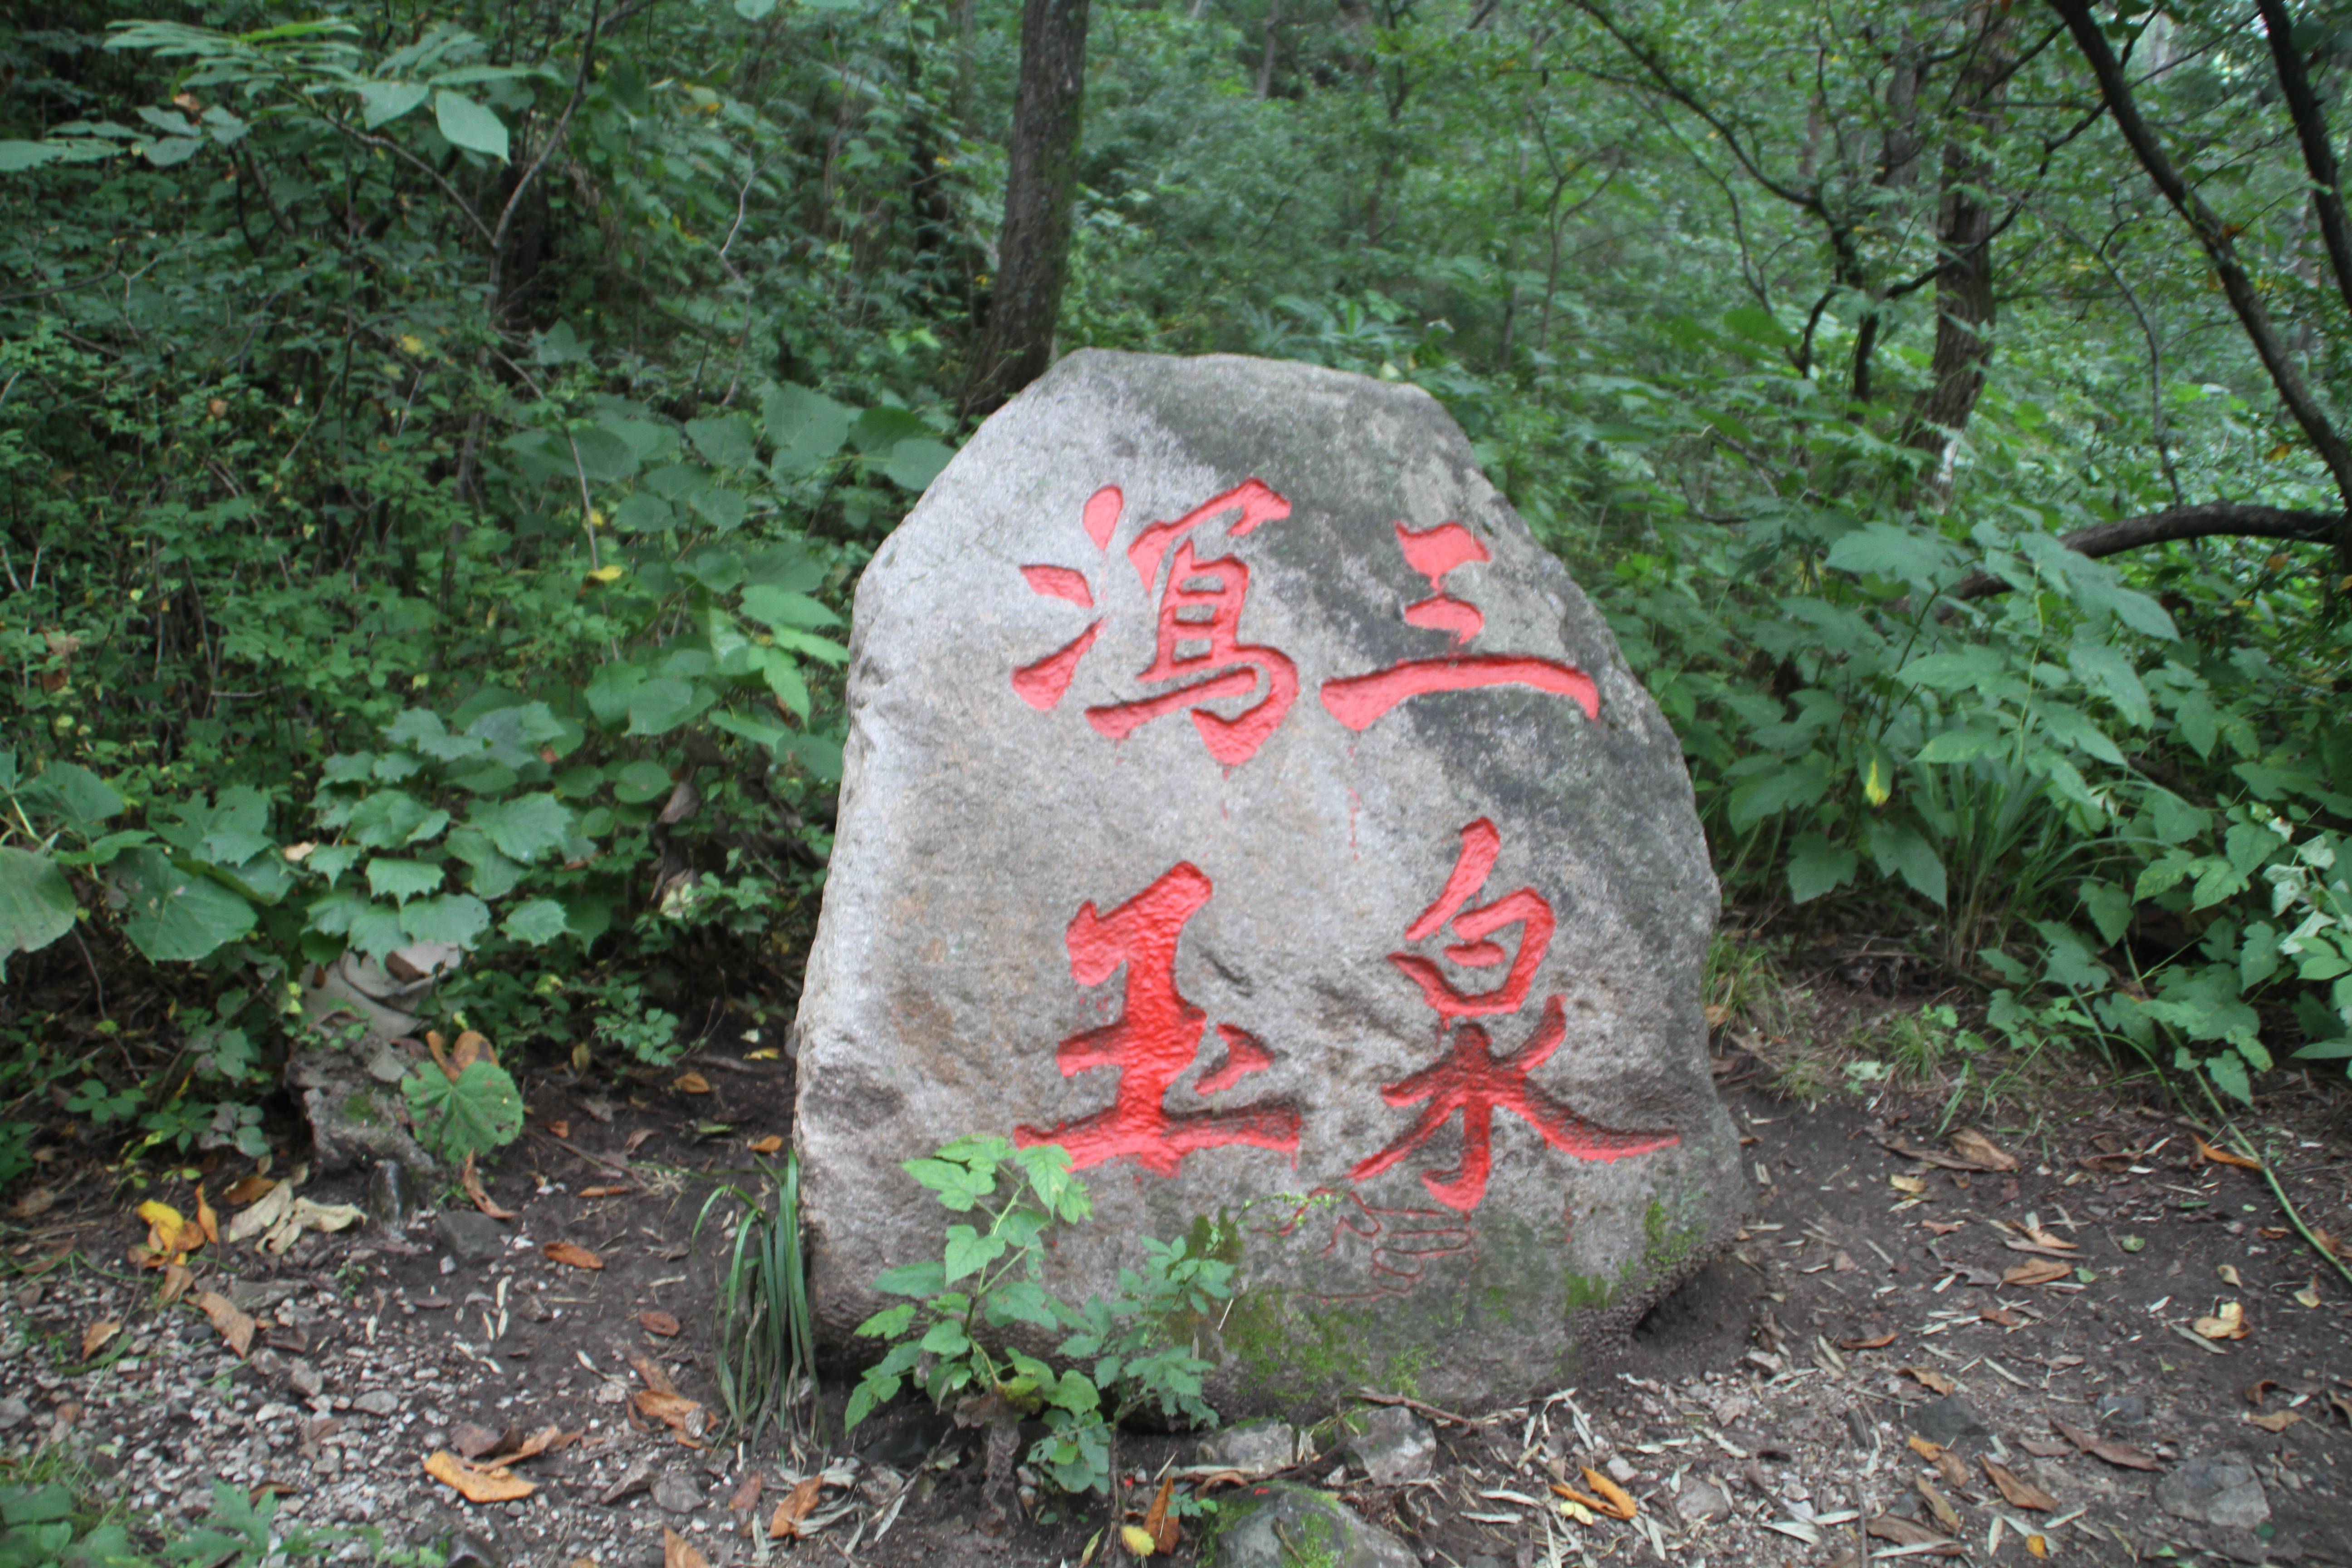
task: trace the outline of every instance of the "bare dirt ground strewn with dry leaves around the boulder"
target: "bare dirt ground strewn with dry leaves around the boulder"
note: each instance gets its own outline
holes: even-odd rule
[[[452,1190],[421,1194],[440,1218],[397,1234],[308,1234],[275,1258],[223,1239],[191,1255],[172,1305],[127,1262],[146,1234],[129,1211],[193,1213],[193,1182],[115,1187],[52,1145],[0,1222],[0,1481],[61,1465],[179,1521],[216,1479],[268,1488],[282,1519],[388,1542],[353,1537],[350,1561],[407,1544],[550,1568],[682,1563],[687,1547],[715,1566],[1080,1563],[1108,1502],[1030,1493],[995,1519],[976,1434],[927,1410],[835,1453],[713,1441],[724,1232],[691,1232],[713,1182],[753,1178],[750,1145],[790,1133],[790,1070],[741,1046],[684,1067],[696,1093],[529,1081],[529,1131],[489,1182],[513,1220]],[[2037,1110],[1973,1124],[2013,1171],[1952,1168],[1983,1150],[1938,1131],[1940,1105],[1806,1110],[1764,1077],[1726,1063],[1755,1140],[1745,1239],[1630,1342],[1522,1406],[1423,1408],[1435,1460],[1397,1483],[1338,1453],[1350,1413],[1334,1410],[1289,1479],[1461,1568],[2352,1563],[2352,1288],[2258,1173],[2213,1164],[2169,1112],[2051,1084]],[[2307,1222],[2352,1234],[2352,1100],[2284,1081],[2241,1126]],[[240,1175],[214,1166],[207,1192]],[[365,1201],[358,1182],[303,1192]],[[195,1309],[205,1291],[254,1319],[247,1354]],[[2244,1338],[2197,1331],[2230,1302]],[[663,1385],[673,1403],[640,1399]],[[837,1408],[835,1392],[835,1432]],[[543,1453],[510,1462],[529,1497],[466,1502],[423,1469],[437,1450],[494,1465],[548,1427]],[[1127,1516],[1192,1460],[1190,1436],[1127,1436]],[[1625,1490],[1630,1521],[1559,1509],[1555,1483],[1595,1495],[1585,1467]],[[1174,1559],[1200,1556],[1221,1495],[1207,1476],[1176,1488]],[[779,1505],[804,1509],[804,1540],[769,1537]]]

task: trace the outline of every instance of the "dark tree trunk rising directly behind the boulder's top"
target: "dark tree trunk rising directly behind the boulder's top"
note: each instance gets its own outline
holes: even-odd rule
[[[1061,287],[1070,275],[1084,96],[1087,0],[1025,0],[997,287],[964,388],[967,414],[993,414],[1054,357]]]

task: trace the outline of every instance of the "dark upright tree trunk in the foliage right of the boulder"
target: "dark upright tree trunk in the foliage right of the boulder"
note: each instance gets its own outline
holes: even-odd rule
[[[1992,360],[1992,207],[1985,200],[1992,160],[1985,148],[2002,129],[2009,94],[2006,35],[2009,7],[1987,0],[1952,94],[1966,110],[1943,143],[1933,386],[1919,397],[1910,433],[1919,451],[1943,451],[1966,428]]]

